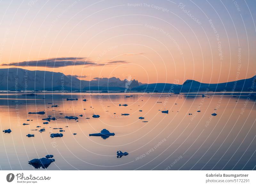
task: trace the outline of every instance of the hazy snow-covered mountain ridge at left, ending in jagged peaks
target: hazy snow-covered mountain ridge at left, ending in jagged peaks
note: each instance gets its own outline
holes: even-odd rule
[[[106,87],[109,90],[131,90],[143,85],[137,80],[120,80],[116,77],[85,81],[59,72],[22,68],[0,69],[0,77],[0,90],[106,90]]]

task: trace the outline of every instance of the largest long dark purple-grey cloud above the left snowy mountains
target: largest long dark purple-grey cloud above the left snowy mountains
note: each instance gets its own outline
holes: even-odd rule
[[[22,61],[22,62],[13,62],[13,63],[4,63],[1,66],[40,66],[40,67],[48,67],[48,68],[59,68],[63,66],[93,66],[97,63],[93,62],[89,58],[74,58],[74,57],[67,57],[67,58],[48,58],[42,59],[38,61]]]

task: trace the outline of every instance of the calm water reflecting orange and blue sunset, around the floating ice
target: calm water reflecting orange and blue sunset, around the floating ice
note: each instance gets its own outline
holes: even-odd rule
[[[36,94],[27,99],[21,93],[0,94],[1,130],[12,130],[0,135],[2,170],[32,170],[28,160],[47,154],[55,159],[47,170],[256,169],[256,106],[255,98],[246,101],[249,93],[240,97],[233,97],[239,93],[208,93],[204,98],[202,93],[170,97],[160,93]],[[66,100],[71,97],[78,100]],[[52,108],[52,104],[59,107]],[[169,110],[169,114],[159,110]],[[39,111],[46,114],[28,114]],[[217,116],[211,116],[214,112]],[[49,115],[57,120],[43,124],[42,118]],[[31,131],[40,129],[36,126],[45,132]],[[60,133],[53,128],[63,128],[63,137],[50,138],[50,133]],[[89,136],[104,128],[116,135],[107,139]],[[28,138],[28,134],[35,137]],[[129,155],[117,159],[119,150]]]

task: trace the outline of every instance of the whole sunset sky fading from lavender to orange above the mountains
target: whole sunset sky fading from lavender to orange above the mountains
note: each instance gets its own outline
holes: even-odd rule
[[[178,83],[256,74],[256,1],[0,0],[0,68]]]

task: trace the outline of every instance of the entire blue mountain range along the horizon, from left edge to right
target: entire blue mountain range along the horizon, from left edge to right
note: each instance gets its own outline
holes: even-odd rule
[[[0,90],[84,90],[84,91],[154,91],[154,92],[198,92],[198,91],[256,91],[256,75],[249,79],[225,83],[201,83],[187,80],[183,84],[143,84],[138,80],[120,80],[116,77],[79,80],[75,76],[59,72],[30,71],[21,68],[0,69]]]

